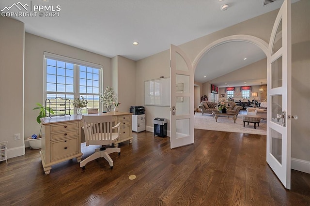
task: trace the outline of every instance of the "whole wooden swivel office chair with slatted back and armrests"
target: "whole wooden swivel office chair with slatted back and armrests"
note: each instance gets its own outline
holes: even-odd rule
[[[91,162],[97,158],[103,157],[113,168],[113,160],[110,158],[109,154],[113,152],[118,152],[121,155],[121,148],[108,147],[105,145],[112,145],[112,141],[117,139],[120,136],[120,125],[119,122],[117,125],[112,127],[112,116],[82,116],[84,133],[85,133],[85,142],[86,146],[89,145],[102,145],[101,148],[95,149],[95,152],[87,157],[85,160],[79,163],[79,166],[82,169],[85,169],[85,165],[88,162]],[[112,130],[117,132],[112,132]]]

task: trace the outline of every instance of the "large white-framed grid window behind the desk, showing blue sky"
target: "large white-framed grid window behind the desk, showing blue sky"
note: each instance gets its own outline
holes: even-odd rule
[[[71,101],[71,114],[75,114],[74,97],[88,101],[87,109],[100,109],[99,93],[102,88],[102,66],[78,59],[71,59],[45,52],[45,98],[57,102],[57,98]],[[59,111],[54,111],[56,114]]]

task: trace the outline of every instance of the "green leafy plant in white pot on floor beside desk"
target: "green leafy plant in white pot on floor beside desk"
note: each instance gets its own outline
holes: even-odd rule
[[[46,111],[48,111],[50,114],[54,114],[54,111],[50,107],[43,106],[40,103],[36,103],[38,107],[35,107],[33,109],[39,109],[39,115],[37,117],[37,122],[41,124],[41,119],[40,118],[45,118],[46,117]],[[37,134],[32,134],[31,137],[28,137],[27,139],[29,140],[30,148],[31,149],[40,149],[42,147],[42,139],[41,139],[41,132],[42,132],[42,125],[40,127],[40,132],[39,135]]]

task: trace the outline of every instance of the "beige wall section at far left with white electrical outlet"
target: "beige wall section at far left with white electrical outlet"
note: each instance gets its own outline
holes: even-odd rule
[[[8,150],[16,150],[13,156],[25,154],[24,34],[24,23],[0,17],[0,141],[8,141]],[[14,140],[15,133],[20,140]]]

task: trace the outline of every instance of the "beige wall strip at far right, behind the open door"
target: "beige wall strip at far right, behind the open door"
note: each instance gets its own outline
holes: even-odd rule
[[[310,1],[292,11],[292,158],[310,161]]]

